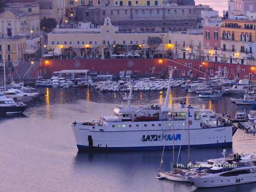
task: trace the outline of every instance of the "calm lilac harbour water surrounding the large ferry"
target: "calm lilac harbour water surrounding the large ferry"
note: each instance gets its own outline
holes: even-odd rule
[[[24,116],[0,120],[0,191],[256,192],[256,183],[198,190],[189,183],[157,180],[161,151],[78,153],[68,123],[113,114],[116,105],[125,104],[123,93],[78,88],[44,91],[43,99],[32,103]],[[135,92],[132,104],[163,103],[164,98],[160,91]],[[170,100],[231,116],[242,109],[229,96],[198,99],[180,88],[172,89]],[[238,130],[227,151],[253,152],[255,146],[256,136]],[[192,149],[192,162],[221,157],[221,152],[222,148]],[[182,151],[180,161],[187,163],[187,158],[188,151]],[[171,160],[172,151],[166,151],[164,166],[168,168]]]

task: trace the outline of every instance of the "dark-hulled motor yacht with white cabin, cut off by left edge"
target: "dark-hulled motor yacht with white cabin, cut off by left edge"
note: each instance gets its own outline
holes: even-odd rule
[[[23,113],[27,107],[28,105],[24,103],[16,103],[13,99],[0,94],[0,115]]]

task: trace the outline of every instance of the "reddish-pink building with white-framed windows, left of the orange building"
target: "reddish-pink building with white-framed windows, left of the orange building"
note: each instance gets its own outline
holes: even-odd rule
[[[218,50],[221,48],[220,26],[204,26],[204,47]]]

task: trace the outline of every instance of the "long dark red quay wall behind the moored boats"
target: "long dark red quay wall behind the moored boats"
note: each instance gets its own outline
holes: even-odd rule
[[[137,76],[160,75],[163,68],[164,74],[168,74],[168,66],[174,66],[176,78],[198,78],[216,75],[221,71],[222,76],[234,79],[256,79],[256,67],[250,65],[219,63],[209,61],[195,61],[189,59],[54,59],[43,60],[32,76],[42,74],[52,75],[61,70],[90,70],[101,75],[115,74],[120,71],[131,70]]]

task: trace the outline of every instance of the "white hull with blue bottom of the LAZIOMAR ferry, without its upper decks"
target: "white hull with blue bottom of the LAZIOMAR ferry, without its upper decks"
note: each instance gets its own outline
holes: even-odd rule
[[[92,126],[70,123],[76,139],[76,145],[81,150],[159,150],[172,149],[172,130],[157,129],[147,126],[146,130],[129,130],[128,124],[135,127],[136,122],[126,123],[126,128],[120,126],[120,131],[107,131],[104,126]],[[154,123],[158,122],[143,122]],[[113,128],[116,129],[116,128]],[[125,130],[126,129],[126,130]],[[232,145],[232,126],[216,128],[190,129],[190,145],[193,148],[217,147]],[[188,146],[188,129],[174,130],[174,145],[182,148]],[[166,141],[165,141],[166,140]]]

